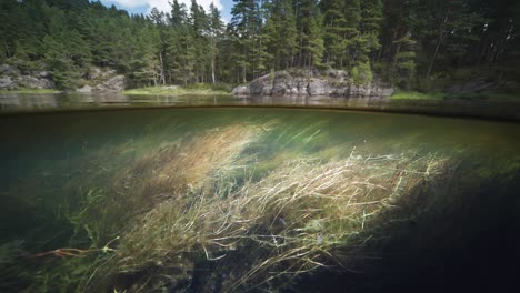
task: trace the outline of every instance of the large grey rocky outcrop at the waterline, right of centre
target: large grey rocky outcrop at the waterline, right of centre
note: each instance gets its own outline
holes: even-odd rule
[[[232,92],[236,95],[386,98],[393,93],[393,89],[377,77],[369,83],[356,84],[344,70],[284,70],[237,87]]]

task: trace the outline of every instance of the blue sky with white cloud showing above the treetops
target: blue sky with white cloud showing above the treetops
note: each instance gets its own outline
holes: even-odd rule
[[[130,13],[148,13],[153,7],[164,12],[170,12],[169,0],[100,0],[104,6],[114,4],[117,8],[124,9]],[[172,0],[171,0],[172,1]],[[190,7],[191,0],[178,0],[179,2],[186,3]],[[208,8],[213,2],[222,14],[226,21],[231,19],[230,11],[233,6],[232,0],[197,0],[197,3]]]

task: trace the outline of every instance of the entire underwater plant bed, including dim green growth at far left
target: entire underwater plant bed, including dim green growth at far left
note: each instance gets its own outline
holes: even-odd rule
[[[448,192],[461,159],[398,139],[341,141],[320,120],[157,127],[83,145],[4,191],[23,194],[9,199],[29,232],[3,234],[1,291],[287,292],[359,273],[410,226],[462,205]],[[519,166],[474,163],[457,189]]]

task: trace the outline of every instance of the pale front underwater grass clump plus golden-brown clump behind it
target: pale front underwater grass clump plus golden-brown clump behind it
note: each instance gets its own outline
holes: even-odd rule
[[[140,175],[139,186],[129,188],[138,200],[124,210],[148,211],[120,231],[118,255],[91,277],[89,290],[100,284],[118,291],[180,290],[206,262],[227,276],[219,281],[222,291],[271,285],[319,267],[348,267],[348,257],[337,251],[361,249],[379,214],[444,164],[436,156],[352,151],[329,162],[277,158],[278,164],[254,179],[260,163],[254,155],[242,158],[242,151],[258,140],[259,129],[266,127],[209,131],[130,166],[127,174]]]

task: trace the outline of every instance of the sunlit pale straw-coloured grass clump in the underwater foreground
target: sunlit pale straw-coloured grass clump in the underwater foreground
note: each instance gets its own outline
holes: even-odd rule
[[[122,256],[106,270],[111,277],[140,275],[129,289],[143,290],[180,286],[197,263],[214,262],[227,276],[222,289],[234,291],[318,267],[348,269],[349,253],[370,240],[378,215],[438,174],[443,162],[352,153],[327,163],[283,162],[258,182],[231,188],[222,184],[232,181],[214,180],[210,189],[164,199],[140,216],[123,232]],[[158,280],[158,271],[170,275]]]

